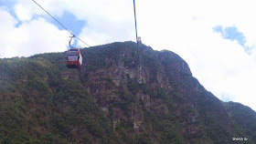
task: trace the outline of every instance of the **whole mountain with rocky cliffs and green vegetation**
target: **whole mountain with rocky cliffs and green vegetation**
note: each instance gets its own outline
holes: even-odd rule
[[[256,143],[256,113],[220,101],[175,53],[80,51],[80,69],[66,52],[1,59],[0,143]]]

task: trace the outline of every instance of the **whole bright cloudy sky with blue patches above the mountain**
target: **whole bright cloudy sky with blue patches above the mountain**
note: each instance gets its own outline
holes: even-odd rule
[[[89,46],[135,41],[133,0],[35,1]],[[175,52],[216,97],[256,110],[255,0],[135,3],[144,45]],[[0,0],[0,17],[0,58],[69,48],[69,32],[33,0]]]

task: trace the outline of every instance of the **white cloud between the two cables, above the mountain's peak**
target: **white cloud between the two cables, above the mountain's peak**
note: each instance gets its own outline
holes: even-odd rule
[[[130,40],[134,37],[133,1],[37,0],[36,2],[53,16],[61,16],[64,11],[68,11],[78,19],[86,21],[87,25],[83,27],[80,38],[88,41],[90,46]],[[34,15],[48,17],[48,14],[32,1],[28,3],[27,0],[18,0],[15,7],[17,7],[16,11],[20,12],[16,13],[19,20],[30,20]],[[79,45],[85,46],[81,42]]]

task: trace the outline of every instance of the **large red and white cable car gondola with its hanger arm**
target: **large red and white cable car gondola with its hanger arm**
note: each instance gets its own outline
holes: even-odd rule
[[[71,37],[71,39],[74,36]],[[80,68],[82,64],[82,57],[80,55],[80,49],[72,47],[70,45],[71,39],[69,40],[69,46],[71,47],[67,52],[67,67],[68,68]]]

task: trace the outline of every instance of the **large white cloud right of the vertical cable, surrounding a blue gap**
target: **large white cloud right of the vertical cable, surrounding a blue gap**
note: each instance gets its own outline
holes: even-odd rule
[[[236,26],[247,39],[245,45],[255,46],[253,1],[148,1],[146,4],[146,8],[141,6],[141,11],[138,10],[139,34],[146,45],[174,51],[218,98],[256,110],[255,48],[248,55],[237,41],[223,39],[212,30],[214,26]]]

